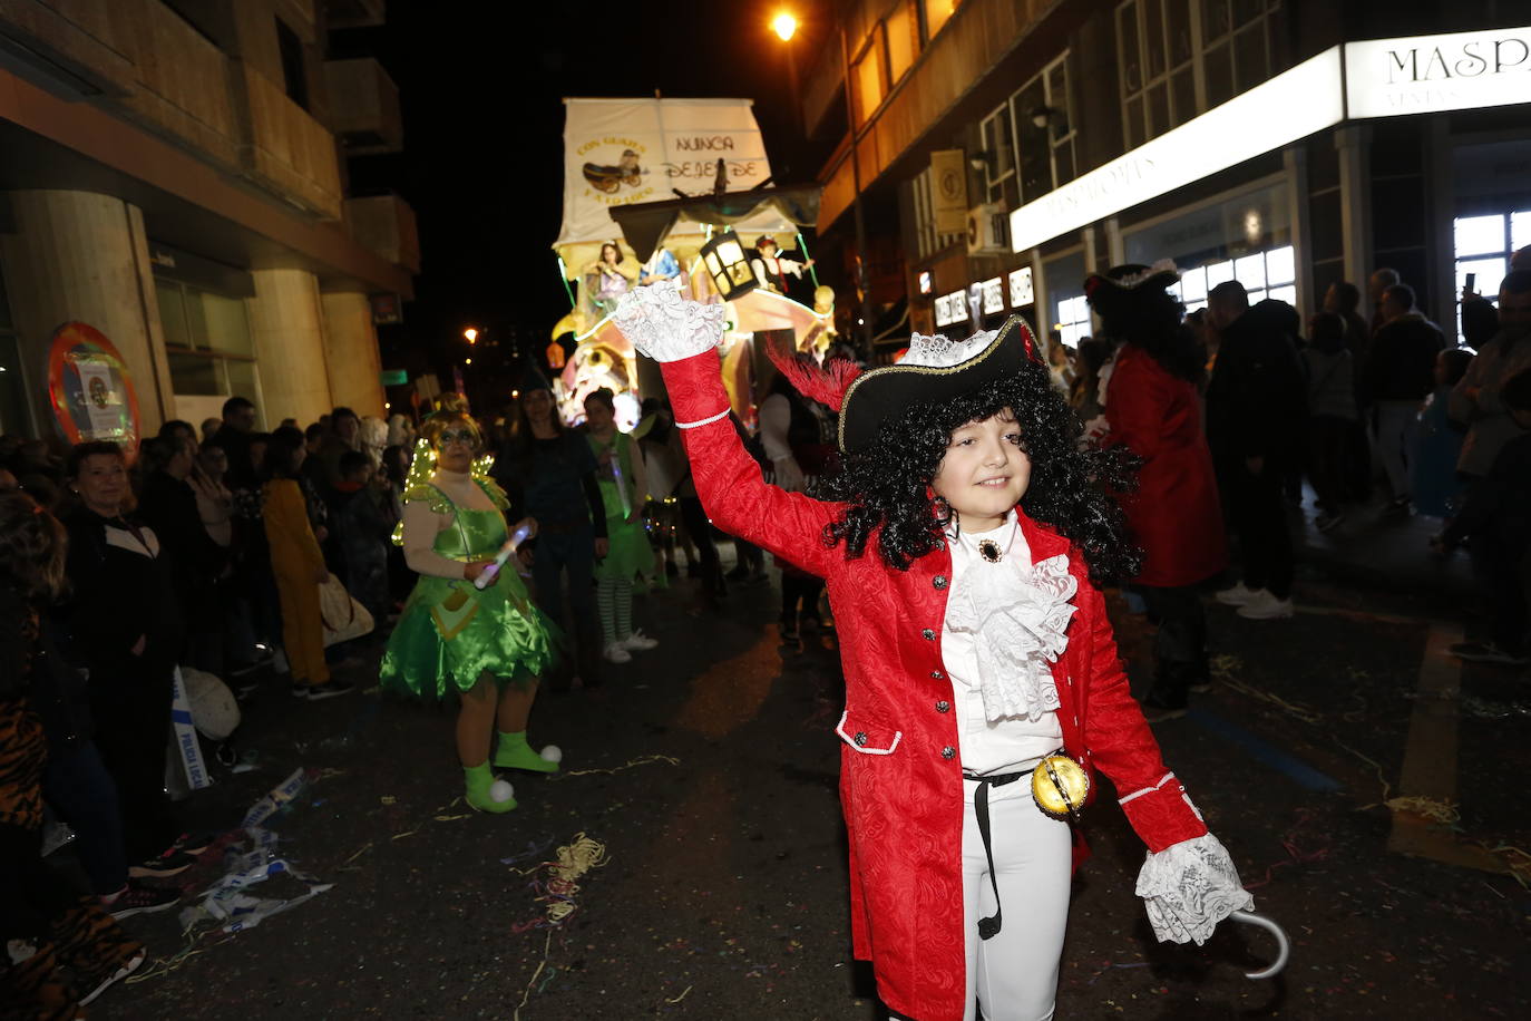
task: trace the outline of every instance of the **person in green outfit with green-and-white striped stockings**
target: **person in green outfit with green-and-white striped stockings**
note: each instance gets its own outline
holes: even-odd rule
[[[599,465],[596,482],[606,511],[606,556],[596,562],[602,655],[609,663],[631,663],[632,652],[658,646],[643,631],[632,629],[632,580],[654,571],[654,548],[643,528],[649,481],[643,452],[617,429],[617,406],[605,387],[585,398],[585,439]]]

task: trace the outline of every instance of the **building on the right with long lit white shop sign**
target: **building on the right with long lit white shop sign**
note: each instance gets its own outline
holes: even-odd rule
[[[877,297],[922,332],[1021,312],[1072,344],[1089,272],[1159,259],[1188,308],[1239,279],[1304,317],[1392,266],[1448,325],[1531,243],[1523,5],[853,0],[837,28],[804,89],[810,126],[836,89],[854,122],[819,230],[896,204]]]

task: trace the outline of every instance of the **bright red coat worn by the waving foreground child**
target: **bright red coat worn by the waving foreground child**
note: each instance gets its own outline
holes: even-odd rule
[[[715,352],[663,370],[677,422],[727,410]],[[966,967],[963,779],[940,644],[951,551],[894,571],[877,556],[874,537],[865,556],[847,560],[844,548],[825,546],[821,537],[844,508],[767,485],[727,418],[683,436],[712,520],[828,583],[845,670],[847,707],[836,732],[844,741],[841,802],[856,957],[873,961],[879,995],[893,1010],[919,1021],[958,1021]],[[1069,648],[1053,667],[1064,747],[1092,776],[1099,768],[1118,791],[1138,794],[1124,810],[1150,851],[1202,836],[1206,827],[1168,776],[1127,690],[1084,559],[1024,514],[1021,528],[1033,560],[1066,553],[1079,582]],[[1081,846],[1075,857],[1082,860]]]

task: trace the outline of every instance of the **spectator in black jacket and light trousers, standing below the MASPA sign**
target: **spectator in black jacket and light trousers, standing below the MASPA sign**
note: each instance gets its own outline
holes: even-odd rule
[[[1435,363],[1442,349],[1445,337],[1415,308],[1413,288],[1407,283],[1389,286],[1382,292],[1382,326],[1372,338],[1366,363],[1376,453],[1393,491],[1389,516],[1409,514],[1409,452],[1415,445],[1419,409],[1435,389]]]

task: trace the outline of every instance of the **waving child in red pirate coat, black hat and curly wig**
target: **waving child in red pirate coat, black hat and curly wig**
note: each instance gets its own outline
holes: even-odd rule
[[[856,957],[894,1016],[1052,1018],[1070,817],[1095,770],[1148,845],[1138,894],[1160,940],[1202,943],[1252,906],[1160,759],[1092,579],[1136,553],[1020,318],[916,335],[900,364],[798,373],[841,413],[828,501],[761,481],[729,424],[723,306],[649,288],[619,329],[663,363],[712,520],[825,579],[841,631],[841,801]]]

